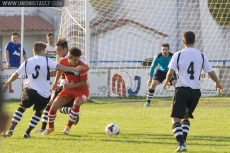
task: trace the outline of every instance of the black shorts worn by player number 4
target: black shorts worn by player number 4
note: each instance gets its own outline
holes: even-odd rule
[[[191,89],[190,87],[178,87],[174,91],[171,108],[171,117],[183,119],[187,114],[193,118],[195,110],[201,96],[200,89]]]

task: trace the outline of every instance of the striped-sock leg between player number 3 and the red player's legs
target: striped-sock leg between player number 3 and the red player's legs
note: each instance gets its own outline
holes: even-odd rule
[[[52,94],[51,99],[49,101],[49,103],[47,104],[46,108],[43,111],[43,118],[42,118],[42,126],[40,129],[36,130],[35,133],[39,133],[39,132],[44,132],[46,129],[46,125],[48,122],[48,113],[50,110],[51,105],[54,102],[54,99],[57,97],[57,95],[62,91],[62,86],[58,87],[55,92]]]

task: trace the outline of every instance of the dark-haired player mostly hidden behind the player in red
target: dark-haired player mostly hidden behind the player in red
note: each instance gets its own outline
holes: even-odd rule
[[[56,46],[57,46],[56,50],[57,50],[58,57],[60,59],[67,58],[68,57],[68,42],[67,42],[67,40],[65,38],[58,39],[58,41],[56,43]],[[82,57],[80,57],[79,60],[82,61],[84,64],[86,64]],[[89,70],[88,65],[86,65],[86,66],[87,66],[87,70]],[[51,73],[54,73],[55,76],[56,76],[56,71],[51,72]],[[50,99],[49,103],[47,104],[47,106],[46,106],[46,108],[45,108],[45,110],[43,112],[42,126],[41,126],[40,129],[36,130],[35,133],[45,131],[46,125],[47,125],[47,122],[48,122],[48,113],[49,113],[50,107],[51,107],[52,103],[54,102],[54,99],[57,97],[57,95],[62,91],[63,84],[65,84],[65,75],[64,74],[61,76],[61,82],[60,82],[59,87],[57,85],[55,85],[54,88],[52,88],[53,90],[55,90],[55,92],[51,96],[51,99]],[[72,99],[69,103],[67,103],[66,105],[61,107],[59,109],[59,111],[61,113],[64,113],[64,114],[69,114],[71,109],[72,109],[72,107],[73,107],[73,102],[74,102],[74,99]],[[78,121],[79,121],[79,116],[76,119],[74,124],[76,125]]]

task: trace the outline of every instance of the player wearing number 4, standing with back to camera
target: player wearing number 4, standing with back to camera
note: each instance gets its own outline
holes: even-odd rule
[[[193,118],[199,98],[201,97],[200,73],[203,69],[215,81],[215,89],[223,88],[213,71],[207,57],[194,48],[195,34],[192,31],[186,31],[183,35],[183,50],[175,53],[169,63],[169,71],[166,76],[166,82],[163,89],[166,90],[167,83],[172,78],[176,68],[178,68],[178,81],[173,96],[171,117],[173,124],[173,133],[178,142],[175,152],[186,151],[186,137],[189,132],[189,118]]]

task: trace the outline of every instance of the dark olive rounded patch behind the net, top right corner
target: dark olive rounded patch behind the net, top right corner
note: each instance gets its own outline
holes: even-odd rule
[[[230,0],[208,0],[209,11],[221,26],[230,26]]]

